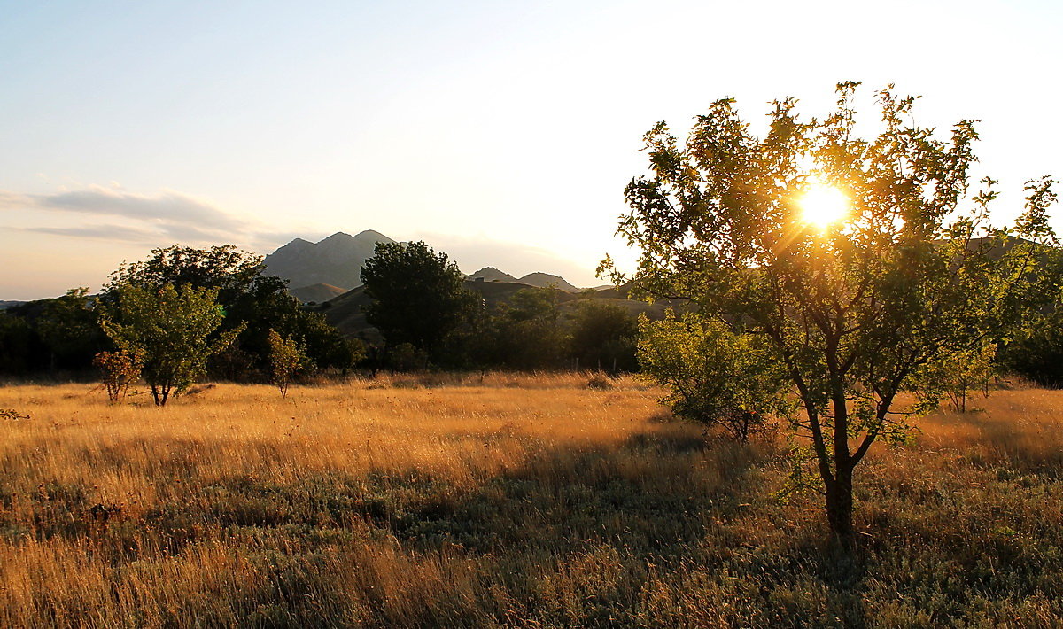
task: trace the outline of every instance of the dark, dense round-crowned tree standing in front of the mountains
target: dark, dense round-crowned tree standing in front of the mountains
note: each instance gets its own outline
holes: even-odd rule
[[[388,345],[410,343],[429,355],[477,303],[457,265],[424,242],[377,242],[361,282],[373,300],[366,320]]]

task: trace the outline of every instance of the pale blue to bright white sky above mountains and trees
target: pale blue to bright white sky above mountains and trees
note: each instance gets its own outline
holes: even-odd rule
[[[0,0],[0,300],[95,290],[152,248],[375,230],[466,272],[603,284],[642,135],[839,81],[977,119],[975,173],[1063,177],[1063,3]],[[1063,212],[1053,211],[1063,231]]]

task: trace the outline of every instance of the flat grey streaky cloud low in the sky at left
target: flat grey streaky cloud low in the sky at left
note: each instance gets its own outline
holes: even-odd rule
[[[156,194],[89,186],[52,194],[23,194],[0,190],[0,209],[49,210],[87,218],[120,218],[129,224],[86,224],[71,227],[29,226],[24,231],[77,238],[103,238],[157,244],[165,240],[193,243],[243,239],[252,225],[208,202],[173,190]]]

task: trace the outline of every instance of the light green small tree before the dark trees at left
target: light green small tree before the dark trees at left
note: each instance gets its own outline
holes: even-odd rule
[[[187,390],[206,371],[206,361],[227,346],[242,325],[210,340],[224,319],[217,289],[172,284],[152,290],[125,284],[103,306],[100,324],[118,347],[141,356],[144,379],[157,406]]]

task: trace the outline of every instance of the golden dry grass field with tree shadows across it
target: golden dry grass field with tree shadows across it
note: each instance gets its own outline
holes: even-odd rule
[[[1053,627],[1063,392],[980,396],[858,469],[860,559],[786,435],[588,376],[0,388],[2,627]]]

